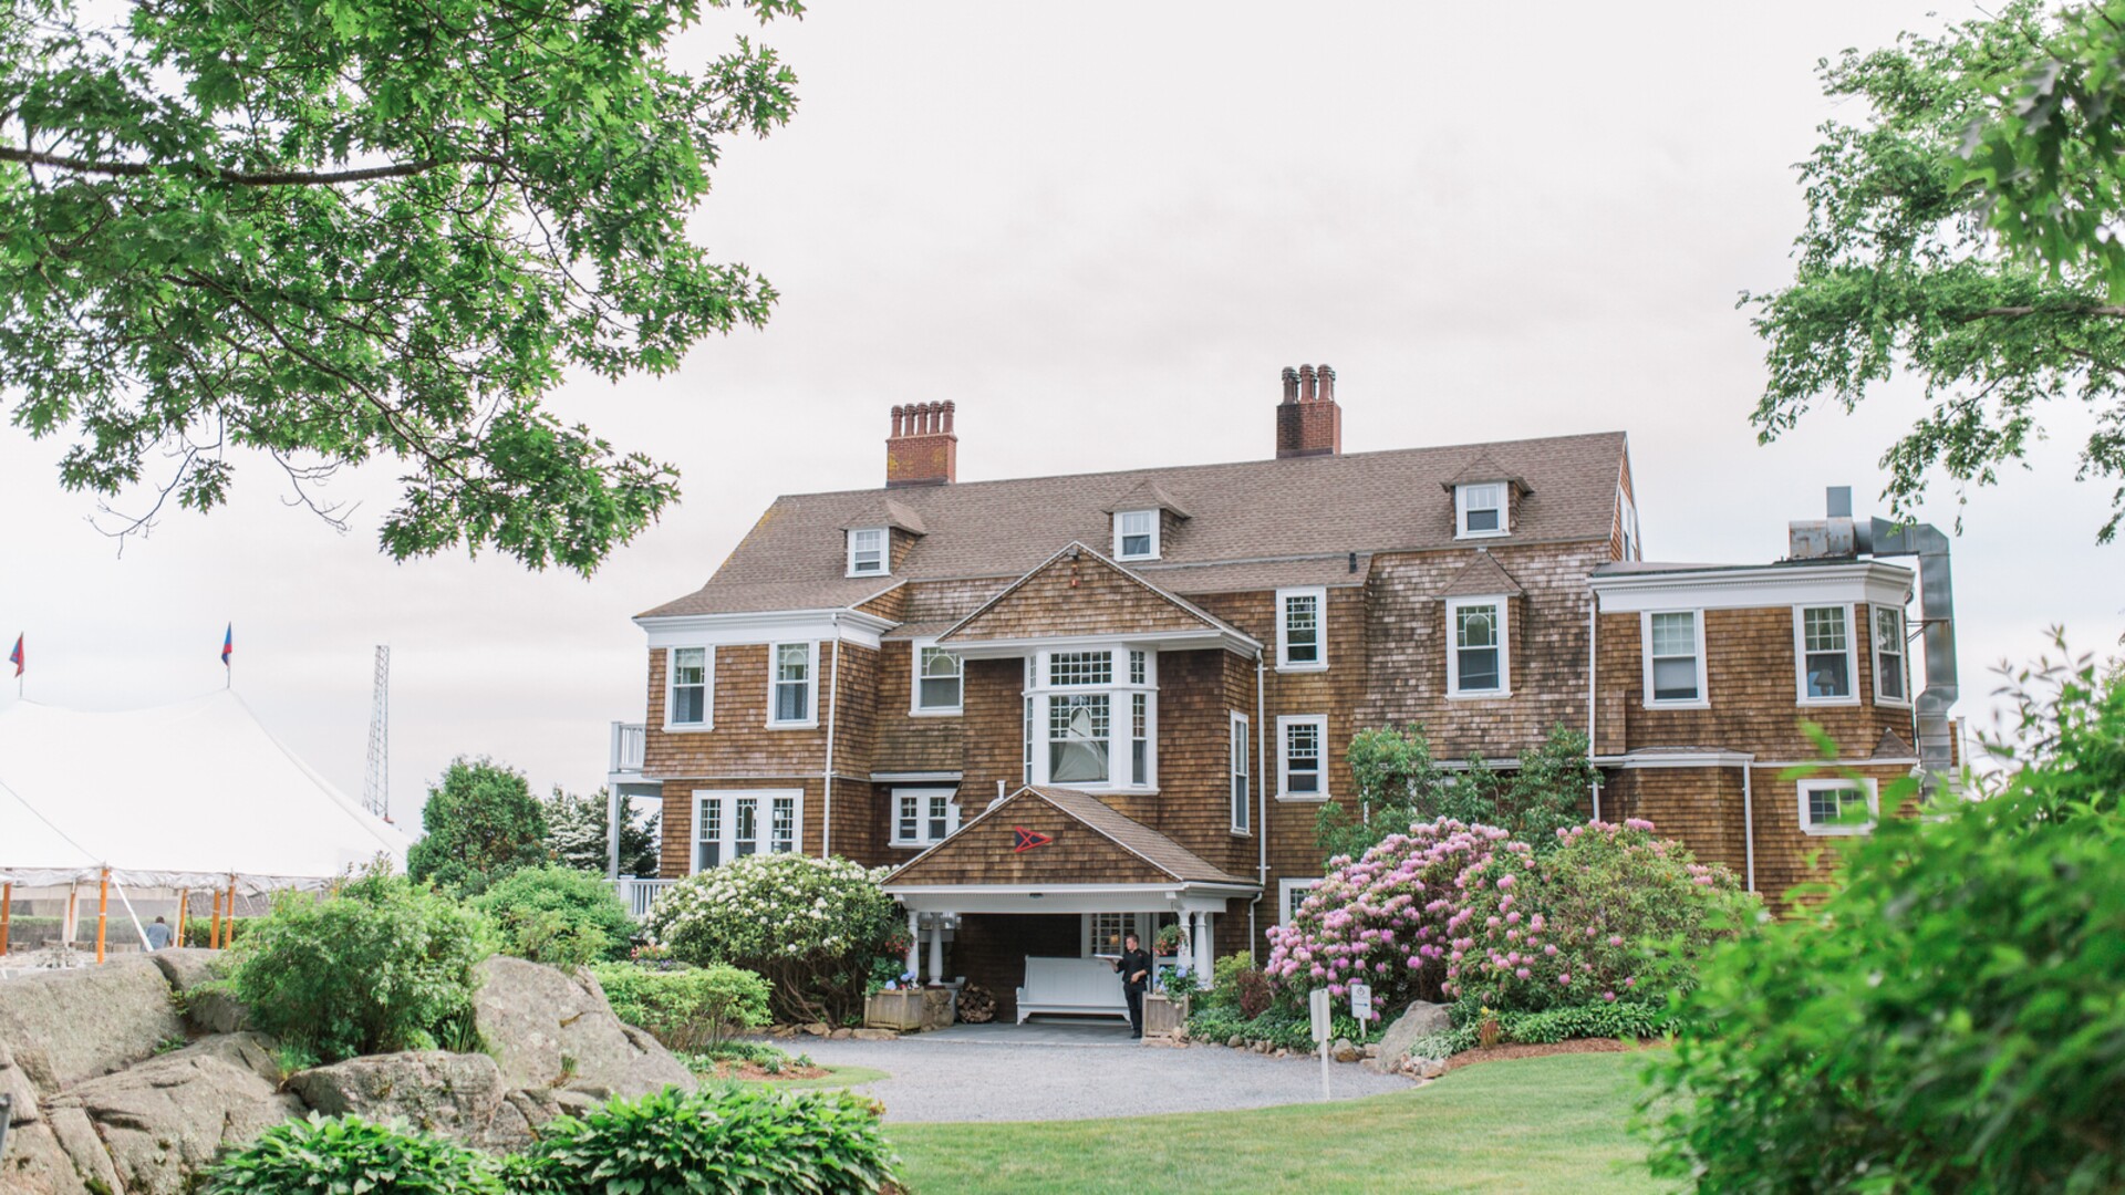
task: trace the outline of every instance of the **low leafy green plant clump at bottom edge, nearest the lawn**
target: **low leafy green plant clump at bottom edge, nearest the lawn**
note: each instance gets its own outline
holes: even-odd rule
[[[901,1176],[878,1114],[846,1091],[665,1089],[548,1123],[531,1159],[555,1195],[880,1191]]]

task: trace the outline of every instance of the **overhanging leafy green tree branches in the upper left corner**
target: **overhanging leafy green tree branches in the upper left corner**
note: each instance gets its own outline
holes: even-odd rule
[[[761,21],[801,0],[735,0]],[[15,0],[0,11],[0,389],[68,489],[208,510],[404,464],[397,559],[591,572],[669,466],[540,406],[665,372],[774,289],[686,238],[720,147],[795,108],[767,47],[684,72],[703,0]],[[729,9],[733,0],[706,0]],[[314,502],[312,502],[312,508]],[[332,508],[319,508],[336,519]]]

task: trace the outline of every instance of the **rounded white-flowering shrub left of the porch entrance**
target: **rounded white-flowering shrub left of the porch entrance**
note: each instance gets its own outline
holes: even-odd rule
[[[665,889],[646,929],[680,961],[765,978],[778,1021],[842,1025],[863,1010],[871,963],[905,942],[882,887],[886,872],[848,859],[744,855]]]

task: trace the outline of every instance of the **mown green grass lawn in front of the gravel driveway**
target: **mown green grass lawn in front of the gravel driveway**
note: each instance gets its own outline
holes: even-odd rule
[[[1640,1063],[1551,1055],[1345,1104],[886,1131],[918,1195],[1660,1191],[1628,1129]]]

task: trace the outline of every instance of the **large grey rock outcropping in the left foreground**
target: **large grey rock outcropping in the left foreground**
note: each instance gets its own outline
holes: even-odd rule
[[[487,1150],[608,1095],[693,1087],[623,1025],[589,972],[480,965],[480,1055],[414,1050],[283,1074],[274,1042],[215,991],[210,950],[0,980],[0,1195],[183,1195],[223,1146],[310,1112],[402,1116]]]

